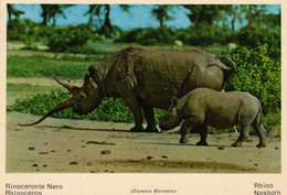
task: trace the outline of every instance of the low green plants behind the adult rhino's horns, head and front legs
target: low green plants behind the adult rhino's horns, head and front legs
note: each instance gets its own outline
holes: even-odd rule
[[[17,100],[7,111],[21,111],[43,116],[51,109],[71,98],[70,94],[54,90],[50,95],[38,95],[30,99]],[[156,110],[156,117],[163,115],[162,110]],[[77,116],[71,108],[61,110],[53,115],[55,118],[89,119],[98,121],[132,122],[131,111],[119,98],[104,98],[102,104],[88,115]]]

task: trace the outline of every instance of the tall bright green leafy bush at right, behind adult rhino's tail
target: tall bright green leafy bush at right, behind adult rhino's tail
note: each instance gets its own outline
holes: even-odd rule
[[[268,44],[223,53],[237,66],[228,78],[226,90],[251,93],[261,100],[265,113],[278,112],[281,102],[280,61],[270,57],[270,54]]]

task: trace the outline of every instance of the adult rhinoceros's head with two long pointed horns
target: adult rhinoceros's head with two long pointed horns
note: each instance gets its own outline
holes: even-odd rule
[[[65,108],[73,108],[74,112],[77,115],[86,115],[94,110],[102,101],[102,93],[98,85],[91,78],[89,73],[85,75],[85,80],[82,87],[72,86],[65,84],[56,78],[54,78],[60,85],[64,86],[73,97],[67,99],[66,101],[60,104],[57,107],[50,110],[45,116],[43,116],[40,120],[29,124],[20,124],[20,126],[33,126],[45,118],[50,117],[54,112],[57,112]]]

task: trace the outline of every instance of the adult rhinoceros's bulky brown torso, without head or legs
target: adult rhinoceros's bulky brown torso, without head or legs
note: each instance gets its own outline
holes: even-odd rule
[[[135,88],[142,102],[167,108],[173,96],[182,97],[198,87],[221,90],[223,73],[215,55],[200,50],[155,51],[126,47],[113,57],[106,77],[107,90],[120,96]],[[113,65],[111,65],[113,64]]]

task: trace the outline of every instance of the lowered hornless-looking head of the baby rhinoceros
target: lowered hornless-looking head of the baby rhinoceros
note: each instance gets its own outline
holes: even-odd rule
[[[178,112],[178,98],[171,99],[171,105],[168,112],[159,118],[159,127],[162,130],[170,130],[176,128],[180,123],[180,116]]]

